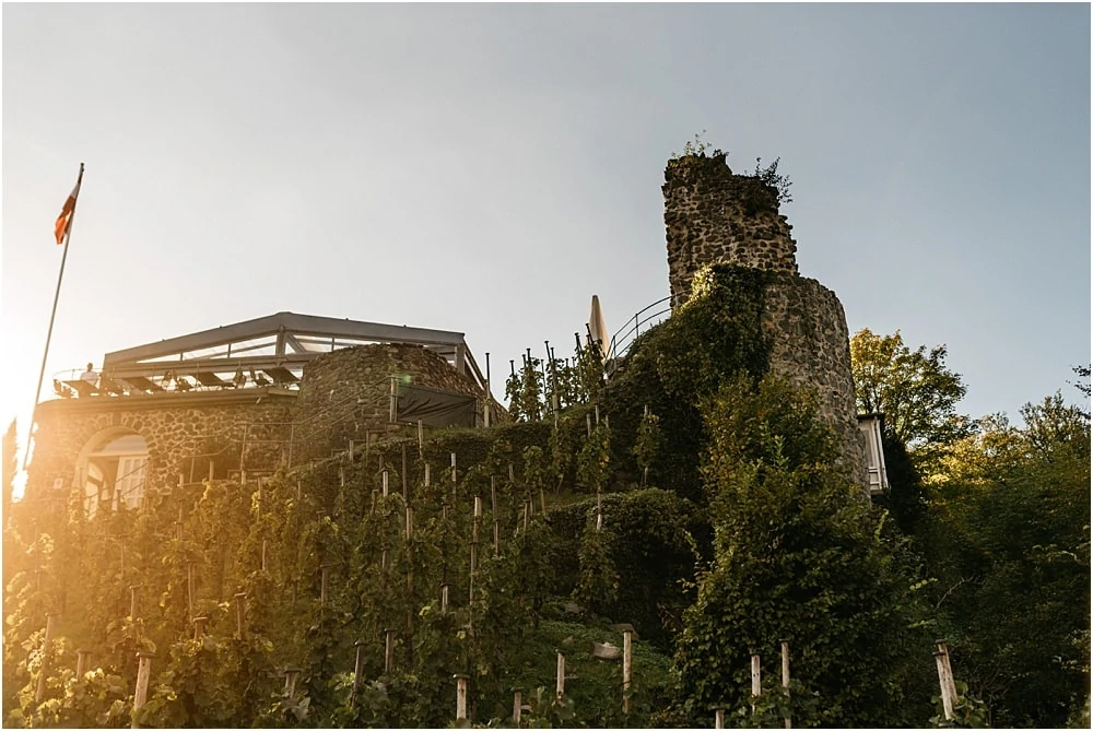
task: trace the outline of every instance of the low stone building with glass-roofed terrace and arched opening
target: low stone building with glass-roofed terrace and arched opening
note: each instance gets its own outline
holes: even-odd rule
[[[77,491],[90,512],[328,457],[400,422],[507,418],[462,333],[293,313],[107,353],[54,389],[26,494]]]

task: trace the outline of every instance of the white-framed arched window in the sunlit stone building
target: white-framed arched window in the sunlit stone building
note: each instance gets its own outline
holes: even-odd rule
[[[148,468],[144,437],[132,432],[111,432],[97,441],[86,452],[83,469],[87,515],[95,515],[99,507],[114,510],[121,505],[129,509],[140,507]]]

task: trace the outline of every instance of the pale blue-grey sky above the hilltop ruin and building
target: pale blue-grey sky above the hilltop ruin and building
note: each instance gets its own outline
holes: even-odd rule
[[[695,132],[781,157],[851,332],[947,343],[962,408],[1090,359],[1090,7],[3,5],[0,418],[47,365],[280,310],[458,330],[495,393],[668,293]]]

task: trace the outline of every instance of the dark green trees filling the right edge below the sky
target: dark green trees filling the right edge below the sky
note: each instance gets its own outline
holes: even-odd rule
[[[1089,697],[1090,431],[1056,393],[956,445],[918,545],[953,665],[1007,727],[1060,727]]]

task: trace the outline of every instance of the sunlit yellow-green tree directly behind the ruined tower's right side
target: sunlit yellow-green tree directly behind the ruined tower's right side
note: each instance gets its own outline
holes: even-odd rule
[[[850,338],[850,366],[859,412],[883,413],[884,429],[903,443],[924,479],[957,440],[974,432],[956,412],[967,387],[945,367],[944,345],[912,351],[898,331],[877,335],[863,329]]]

